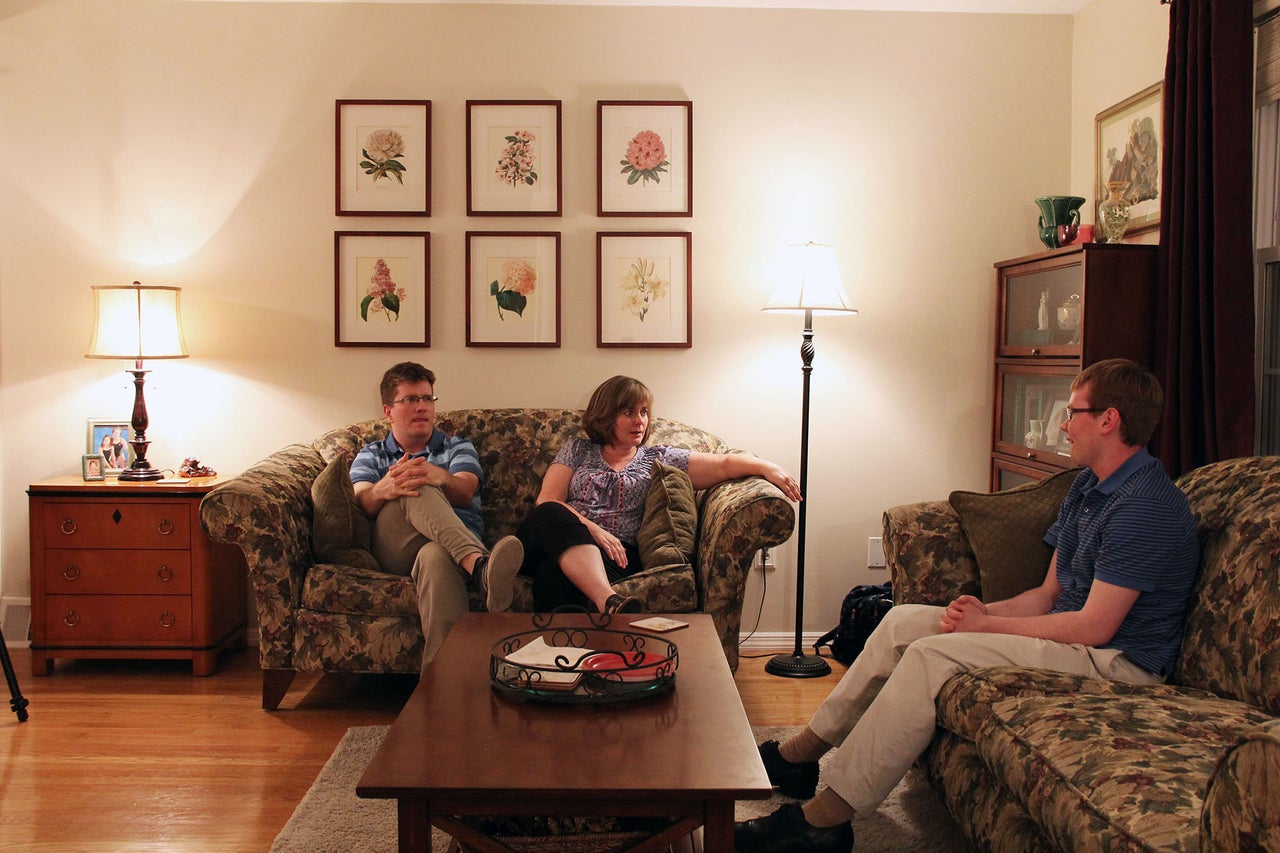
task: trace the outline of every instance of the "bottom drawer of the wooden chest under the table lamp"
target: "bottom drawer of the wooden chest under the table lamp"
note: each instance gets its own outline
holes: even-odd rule
[[[47,596],[50,646],[191,643],[189,596]]]

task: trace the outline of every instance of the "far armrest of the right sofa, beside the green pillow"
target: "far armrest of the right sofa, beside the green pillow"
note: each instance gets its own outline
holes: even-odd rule
[[[957,596],[982,594],[973,548],[948,502],[884,510],[883,544],[893,603],[947,605]]]

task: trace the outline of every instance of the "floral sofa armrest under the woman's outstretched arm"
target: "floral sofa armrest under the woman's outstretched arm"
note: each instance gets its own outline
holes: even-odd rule
[[[728,480],[700,494],[699,610],[712,615],[730,669],[737,669],[737,635],[751,562],[762,548],[790,539],[795,521],[791,501],[763,476]]]

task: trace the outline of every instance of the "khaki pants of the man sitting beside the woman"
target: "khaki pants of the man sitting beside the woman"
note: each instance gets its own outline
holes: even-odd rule
[[[417,585],[417,615],[422,621],[422,669],[440,649],[444,637],[470,608],[462,561],[486,553],[440,489],[421,487],[417,497],[388,501],[374,523],[374,556],[397,575],[412,575]]]

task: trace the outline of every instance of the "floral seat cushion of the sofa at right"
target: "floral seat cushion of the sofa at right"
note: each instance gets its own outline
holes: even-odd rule
[[[1064,849],[1197,850],[1213,767],[1268,719],[1202,695],[1002,699],[977,743],[983,762]]]

